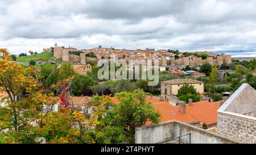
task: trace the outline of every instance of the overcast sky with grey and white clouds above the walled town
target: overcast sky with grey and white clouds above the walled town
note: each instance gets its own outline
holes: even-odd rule
[[[256,1],[1,0],[0,48],[256,48]]]

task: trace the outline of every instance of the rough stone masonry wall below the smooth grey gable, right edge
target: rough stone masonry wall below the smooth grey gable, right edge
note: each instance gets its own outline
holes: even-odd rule
[[[256,120],[233,115],[231,112],[218,112],[218,133],[243,143],[256,144]]]

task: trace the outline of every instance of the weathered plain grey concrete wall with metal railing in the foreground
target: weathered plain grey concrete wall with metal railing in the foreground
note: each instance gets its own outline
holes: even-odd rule
[[[177,120],[138,127],[135,131],[136,144],[154,144],[191,133],[191,144],[234,144],[240,141],[229,139],[214,132],[195,127]]]

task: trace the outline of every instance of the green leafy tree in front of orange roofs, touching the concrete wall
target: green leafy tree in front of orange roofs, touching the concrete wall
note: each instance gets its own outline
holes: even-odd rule
[[[135,128],[145,125],[147,122],[158,123],[159,112],[154,110],[152,103],[146,102],[143,90],[137,89],[133,92],[123,91],[115,94],[121,101],[113,111],[115,122],[123,125],[123,131],[129,143],[135,142]]]

